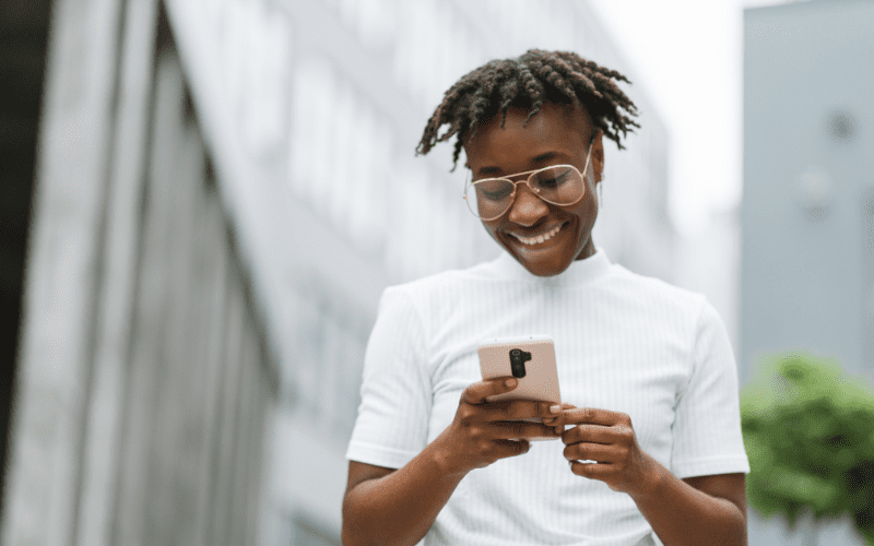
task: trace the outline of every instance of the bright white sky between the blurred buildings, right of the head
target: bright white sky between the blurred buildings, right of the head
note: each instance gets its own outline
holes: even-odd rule
[[[743,10],[783,0],[589,0],[670,133],[669,203],[685,236],[741,202]],[[634,80],[633,80],[634,81]]]

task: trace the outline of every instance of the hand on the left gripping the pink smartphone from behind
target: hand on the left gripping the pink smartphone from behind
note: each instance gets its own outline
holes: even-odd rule
[[[510,384],[507,384],[507,381]],[[531,444],[524,438],[558,438],[564,427],[531,422],[508,422],[528,417],[548,418],[548,402],[513,400],[486,402],[516,389],[516,378],[500,377],[477,381],[461,393],[456,418],[440,435],[440,462],[447,474],[464,473],[488,466],[498,459],[527,453]]]

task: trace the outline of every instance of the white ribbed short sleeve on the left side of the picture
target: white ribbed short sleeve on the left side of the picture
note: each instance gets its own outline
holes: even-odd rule
[[[362,403],[346,459],[400,468],[425,448],[433,396],[425,347],[410,295],[389,286],[365,349]]]

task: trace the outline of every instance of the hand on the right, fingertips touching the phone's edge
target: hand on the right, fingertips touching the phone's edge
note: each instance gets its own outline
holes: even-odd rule
[[[600,479],[614,491],[646,492],[658,479],[659,465],[640,449],[631,418],[621,412],[563,404],[556,425],[576,425],[562,435],[570,472]],[[581,463],[580,461],[598,461]]]

